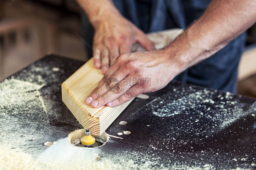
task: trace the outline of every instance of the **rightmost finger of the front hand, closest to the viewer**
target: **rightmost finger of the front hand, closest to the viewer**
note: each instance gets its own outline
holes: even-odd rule
[[[107,103],[106,106],[115,107],[120,104],[123,104],[123,103],[131,100],[132,98],[140,95],[141,93],[143,93],[143,92],[141,92],[140,89],[141,89],[140,86],[132,86],[123,95],[121,95],[120,97],[116,98],[115,100]]]

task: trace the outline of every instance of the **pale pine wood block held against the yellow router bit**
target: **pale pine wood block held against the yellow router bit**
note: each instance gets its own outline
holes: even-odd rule
[[[86,97],[97,87],[103,75],[93,66],[93,58],[87,61],[61,85],[62,100],[83,128],[100,136],[121,112],[132,102],[116,107],[93,108],[85,103]]]

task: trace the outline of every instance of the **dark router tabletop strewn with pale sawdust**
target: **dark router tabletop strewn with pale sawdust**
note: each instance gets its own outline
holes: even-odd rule
[[[106,130],[117,137],[73,146],[61,83],[83,63],[47,55],[0,82],[0,169],[255,169],[256,100],[175,81],[135,98]]]

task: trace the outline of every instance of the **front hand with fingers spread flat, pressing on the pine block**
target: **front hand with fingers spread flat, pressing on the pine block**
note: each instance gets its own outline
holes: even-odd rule
[[[164,88],[179,72],[165,49],[120,55],[86,98],[94,108],[118,106]]]

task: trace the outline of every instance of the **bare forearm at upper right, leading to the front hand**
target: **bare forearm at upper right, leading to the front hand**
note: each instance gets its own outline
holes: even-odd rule
[[[213,0],[199,20],[166,46],[166,54],[182,72],[216,53],[255,21],[255,0]]]

